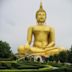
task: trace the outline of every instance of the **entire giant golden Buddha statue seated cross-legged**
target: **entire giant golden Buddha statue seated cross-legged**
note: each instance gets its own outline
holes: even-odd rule
[[[55,46],[55,32],[52,27],[45,24],[46,12],[42,3],[40,3],[40,8],[36,12],[36,20],[37,25],[28,28],[26,45],[21,45],[18,48],[19,55],[29,54],[48,57],[65,50]],[[31,47],[32,36],[34,36],[34,42]]]

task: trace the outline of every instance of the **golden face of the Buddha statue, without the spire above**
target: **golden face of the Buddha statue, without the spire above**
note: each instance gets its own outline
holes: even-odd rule
[[[40,11],[36,15],[36,19],[38,23],[44,23],[46,20],[46,13],[44,11]]]

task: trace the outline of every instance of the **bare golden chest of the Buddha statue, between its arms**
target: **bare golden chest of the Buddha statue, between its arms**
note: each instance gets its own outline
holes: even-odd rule
[[[37,41],[46,41],[49,35],[49,29],[48,28],[34,28],[33,34],[34,38]]]

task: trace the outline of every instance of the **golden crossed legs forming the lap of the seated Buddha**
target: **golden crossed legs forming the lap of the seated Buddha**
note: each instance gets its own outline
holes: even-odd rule
[[[56,51],[62,51],[63,49],[60,47],[47,47],[45,49],[43,48],[38,48],[38,47],[30,47],[30,48],[26,48],[24,45],[21,46],[21,48],[19,49],[20,52],[25,52],[25,51],[32,51],[32,52],[56,52]]]

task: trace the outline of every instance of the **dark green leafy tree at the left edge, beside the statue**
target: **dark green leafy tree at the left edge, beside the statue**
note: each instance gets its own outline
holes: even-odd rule
[[[0,59],[10,58],[13,56],[10,48],[11,47],[7,42],[0,41]]]

